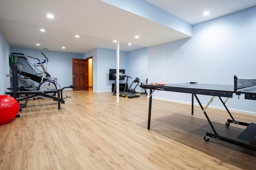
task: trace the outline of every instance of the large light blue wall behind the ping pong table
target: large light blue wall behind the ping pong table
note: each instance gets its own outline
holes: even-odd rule
[[[256,7],[193,26],[193,37],[148,48],[149,82],[234,84],[256,78]],[[155,92],[157,98],[191,102],[190,94]],[[228,108],[256,112],[255,101],[234,95]],[[210,96],[200,96],[207,104]],[[215,99],[212,106],[223,107]]]

